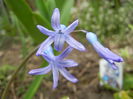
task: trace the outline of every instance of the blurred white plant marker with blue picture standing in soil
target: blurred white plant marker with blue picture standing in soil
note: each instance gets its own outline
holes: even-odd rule
[[[116,63],[118,70],[113,70],[109,63],[101,59],[99,61],[100,85],[108,84],[113,88],[122,89],[123,86],[123,63]]]

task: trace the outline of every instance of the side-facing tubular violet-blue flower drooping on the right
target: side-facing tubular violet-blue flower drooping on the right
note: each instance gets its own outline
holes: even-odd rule
[[[117,54],[110,51],[108,48],[105,48],[98,40],[96,34],[92,32],[86,33],[86,38],[89,43],[94,47],[95,51],[99,54],[100,57],[109,62],[110,66],[113,69],[118,67],[115,65],[115,62],[123,62],[123,58]]]

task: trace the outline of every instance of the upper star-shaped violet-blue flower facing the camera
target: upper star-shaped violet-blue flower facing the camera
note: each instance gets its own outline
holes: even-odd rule
[[[65,41],[73,48],[85,51],[85,47],[78,41],[76,41],[74,38],[70,36],[70,33],[74,31],[76,26],[78,25],[78,20],[74,21],[72,24],[70,24],[68,27],[65,25],[60,24],[60,12],[58,8],[55,8],[53,11],[53,15],[51,17],[51,25],[54,29],[48,30],[47,28],[37,25],[37,28],[45,35],[48,35],[49,37],[40,45],[40,48],[38,49],[36,55],[39,56],[41,53],[44,52],[44,50],[50,46],[54,42],[54,48],[57,51],[61,51]]]

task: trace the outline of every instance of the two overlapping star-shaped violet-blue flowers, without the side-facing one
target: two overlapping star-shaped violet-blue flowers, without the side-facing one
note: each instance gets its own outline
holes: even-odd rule
[[[74,21],[68,27],[60,24],[60,12],[58,8],[55,8],[51,17],[51,25],[54,31],[48,30],[47,28],[37,25],[37,28],[45,35],[49,37],[40,45],[36,55],[42,56],[49,65],[47,67],[33,69],[29,72],[31,75],[42,75],[47,74],[52,70],[53,73],[53,89],[58,85],[59,72],[69,81],[75,83],[77,78],[71,75],[65,68],[78,66],[78,64],[70,59],[65,60],[64,58],[73,50],[73,48],[79,51],[85,51],[84,45],[76,41],[70,36],[70,33],[74,31],[78,25],[78,20]],[[51,44],[54,42],[54,48],[57,51],[62,51],[65,41],[69,46],[59,55],[54,56]]]

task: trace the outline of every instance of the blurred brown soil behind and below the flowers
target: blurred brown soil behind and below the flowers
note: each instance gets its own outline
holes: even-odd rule
[[[99,86],[98,78],[98,61],[99,57],[95,53],[88,43],[84,43],[87,47],[86,52],[79,52],[74,50],[69,56],[69,59],[73,59],[79,63],[78,67],[69,68],[69,72],[79,79],[79,82],[73,84],[60,75],[59,85],[56,90],[52,90],[52,80],[43,80],[39,90],[36,93],[34,99],[113,99],[113,93],[110,90],[104,89]],[[20,44],[11,44],[9,48],[0,50],[0,65],[10,64],[18,66],[21,62],[20,57]],[[15,94],[18,89],[25,84],[29,86],[32,81],[32,76],[28,75],[28,71],[32,68],[37,68],[41,64],[41,58],[33,57],[27,63],[26,78],[24,81],[19,81],[19,77],[16,78],[18,81],[14,81],[11,86],[9,99],[21,99],[23,94]],[[10,74],[11,75],[11,74]],[[69,96],[69,98],[62,98]]]

